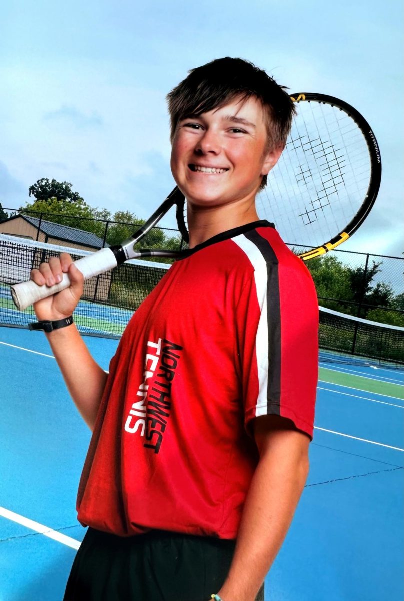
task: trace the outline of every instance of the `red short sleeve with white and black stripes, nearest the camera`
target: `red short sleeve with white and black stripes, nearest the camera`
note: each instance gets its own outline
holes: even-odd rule
[[[277,255],[259,249],[252,263],[254,274],[236,310],[246,427],[259,416],[280,415],[313,439],[318,378],[313,280],[289,249]]]

